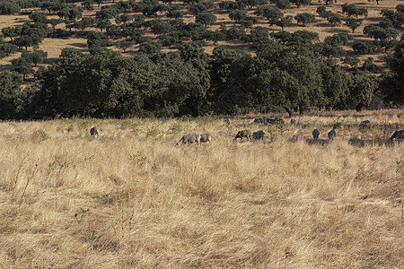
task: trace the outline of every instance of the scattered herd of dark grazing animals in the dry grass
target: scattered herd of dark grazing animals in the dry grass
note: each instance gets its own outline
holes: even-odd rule
[[[226,119],[226,123],[230,124],[231,120],[228,118]],[[254,119],[254,123],[260,123],[260,124],[265,124],[265,125],[273,125],[273,124],[284,124],[284,120],[282,118],[271,118],[271,117],[257,117]],[[295,124],[296,121],[292,118],[291,119],[291,124]],[[367,127],[370,126],[371,123],[369,120],[364,120],[359,126],[360,127]],[[329,138],[329,142],[332,141],[336,136],[337,136],[337,132],[335,131],[335,128],[338,127],[337,125],[334,125],[332,127],[332,129],[329,131],[328,133],[328,138]],[[90,129],[90,134],[92,136],[100,136],[100,129],[96,126],[93,126]],[[234,136],[234,141],[236,141],[238,138],[240,138],[241,140],[243,140],[244,138],[247,139],[247,141],[251,141],[251,142],[255,142],[255,141],[259,141],[259,140],[263,140],[264,139],[264,131],[259,130],[257,132],[251,133],[250,130],[246,129],[246,130],[242,130],[239,131],[235,136]],[[320,131],[318,129],[314,129],[312,131],[312,138],[313,138],[313,142],[317,142],[319,140],[319,136],[320,136]],[[400,131],[395,131],[394,134],[391,135],[390,137],[390,141],[403,141],[404,140],[404,130],[400,130]],[[198,145],[200,145],[200,143],[206,143],[212,142],[212,135],[209,133],[206,134],[197,134],[197,133],[192,133],[192,134],[184,134],[180,141],[176,143],[176,145],[180,146],[183,143],[198,143]]]

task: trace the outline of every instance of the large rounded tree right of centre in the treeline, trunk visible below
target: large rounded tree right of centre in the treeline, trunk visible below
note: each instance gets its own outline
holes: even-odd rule
[[[258,100],[265,106],[293,110],[324,103],[322,95],[321,65],[310,54],[294,54],[294,48],[277,43],[259,47],[251,71],[251,84],[257,89]]]

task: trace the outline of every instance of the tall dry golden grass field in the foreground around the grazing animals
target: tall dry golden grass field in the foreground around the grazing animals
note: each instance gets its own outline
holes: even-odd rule
[[[404,111],[296,119],[0,122],[0,267],[403,268]]]

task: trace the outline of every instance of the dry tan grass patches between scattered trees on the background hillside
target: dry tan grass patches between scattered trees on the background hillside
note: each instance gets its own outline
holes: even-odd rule
[[[137,0],[136,2],[140,2],[140,0]],[[215,9],[213,10],[213,13],[215,13],[215,15],[217,17],[217,21],[215,22],[214,25],[208,26],[207,29],[208,30],[217,30],[220,28],[221,25],[231,27],[233,25],[233,21],[229,19],[228,12],[219,8],[219,3],[221,1],[214,0],[211,2],[215,3]],[[352,34],[352,36],[354,38],[352,42],[355,42],[355,41],[362,40],[362,39],[369,39],[363,33],[364,26],[366,24],[376,24],[376,23],[382,21],[382,15],[380,14],[382,9],[389,9],[391,11],[394,11],[397,4],[402,4],[401,2],[402,1],[399,1],[399,0],[382,0],[382,1],[380,1],[379,4],[376,4],[375,1],[369,2],[369,1],[344,0],[344,1],[338,1],[335,4],[327,5],[328,11],[342,15],[343,19],[347,18],[347,16],[342,14],[342,9],[341,9],[342,4],[345,4],[345,3],[356,4],[357,6],[364,7],[368,10],[369,15],[367,16],[367,18],[364,18],[362,25],[356,29],[354,34],[352,34],[352,31],[347,27],[347,25],[345,25],[344,21],[335,27],[331,27],[326,19],[321,18],[321,16],[318,13],[316,13],[316,9],[321,4],[324,4],[323,2],[319,3],[318,1],[313,0],[312,4],[307,5],[307,6],[301,6],[300,8],[296,8],[296,6],[294,4],[292,4],[290,9],[284,9],[284,10],[282,10],[282,12],[285,13],[285,15],[293,15],[293,16],[296,15],[297,13],[312,13],[316,17],[316,22],[314,22],[310,25],[307,25],[306,27],[297,25],[297,23],[294,20],[294,26],[285,28],[285,30],[287,30],[287,31],[294,32],[296,30],[310,30],[313,32],[317,32],[317,33],[319,33],[319,37],[320,37],[319,41],[321,41],[321,42],[328,36],[332,36],[333,34],[336,34],[339,32],[346,32],[346,33]],[[108,4],[111,4],[111,1],[106,1],[105,4],[101,4],[101,6],[108,5]],[[183,4],[183,3],[174,1],[173,4]],[[274,5],[274,4],[272,4],[272,5]],[[101,9],[101,7],[98,7],[97,4],[94,4],[94,10],[93,11],[84,11],[83,16],[95,17],[95,13],[100,11],[100,9]],[[254,7],[251,10],[247,10],[247,12],[251,16],[256,16],[253,14],[255,10],[256,10],[256,8]],[[15,14],[15,15],[1,15],[0,16],[0,30],[3,29],[4,27],[16,26],[16,25],[21,25],[24,22],[30,22],[28,14],[31,12],[42,12],[42,13],[48,14],[48,12],[46,12],[46,11],[40,11],[39,8],[27,9],[27,10],[23,10],[23,12],[24,13]],[[190,14],[188,12],[188,10],[184,10],[184,12],[185,12],[185,16],[183,18],[184,22],[195,22],[195,16]],[[141,13],[129,13],[129,14],[136,15],[136,14],[141,14]],[[58,16],[57,16],[57,14],[52,13],[52,14],[48,14],[48,18],[57,19]],[[147,20],[153,20],[153,19],[172,20],[172,19],[164,17],[163,15],[160,15],[160,14],[159,14],[159,16],[156,16],[156,17],[147,18]],[[114,20],[111,20],[111,22],[114,23]],[[266,28],[268,28],[269,32],[281,30],[281,28],[276,25],[269,26],[268,21],[265,19],[262,19],[262,18],[260,18],[259,23],[255,24],[253,27],[257,27],[257,26],[266,27]],[[49,27],[50,27],[50,25],[49,25]],[[59,24],[57,26],[57,28],[65,29],[65,24],[64,23]],[[98,29],[91,29],[91,30],[100,31]],[[146,39],[156,39],[156,36],[154,36],[154,34],[150,30],[146,30],[145,38]],[[369,39],[369,40],[371,40],[371,39]],[[4,39],[4,41],[9,41],[9,39],[8,38]],[[110,41],[115,42],[116,40],[110,40]],[[173,50],[178,49],[179,46],[180,45],[164,47],[164,48],[162,48],[162,51],[164,51],[164,52],[173,51]],[[213,49],[216,46],[228,46],[230,48],[242,48],[242,49],[246,49],[246,50],[250,51],[251,53],[254,52],[253,49],[249,48],[249,46],[250,46],[249,44],[246,44],[240,40],[236,40],[236,41],[226,40],[226,41],[219,41],[219,42],[217,42],[217,44],[214,44],[214,42],[212,42],[212,41],[207,41],[206,46],[205,46],[206,53],[211,55]],[[45,39],[40,44],[40,49],[48,52],[48,60],[45,62],[45,65],[51,64],[60,55],[62,48],[79,48],[83,51],[87,51],[86,39],[83,39],[83,38],[79,38],[79,39]],[[127,52],[124,55],[126,55],[126,56],[133,55],[137,52],[138,48],[139,48],[138,45],[133,46],[132,48],[128,48]],[[119,50],[118,48],[115,48],[115,47],[110,47],[110,49]],[[359,65],[362,65],[364,60],[371,56],[374,59],[374,64],[376,64],[382,68],[386,67],[385,58],[384,58],[384,49],[381,49],[380,51],[376,51],[375,54],[373,54],[373,55],[355,55],[351,46],[344,46],[344,49],[347,51],[347,56],[358,56],[358,58],[361,60],[361,63]],[[10,67],[11,67],[10,61],[13,58],[17,58],[19,56],[21,56],[21,52],[15,53],[12,56],[7,56],[3,59],[0,59],[0,71],[10,69]]]

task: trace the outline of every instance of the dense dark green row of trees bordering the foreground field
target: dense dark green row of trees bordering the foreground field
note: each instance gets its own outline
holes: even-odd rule
[[[286,111],[317,106],[402,106],[404,41],[389,56],[390,73],[347,72],[312,49],[268,41],[256,56],[224,47],[209,57],[200,42],[179,51],[135,56],[99,48],[65,48],[40,68],[29,89],[22,76],[0,74],[0,117],[173,117]]]

